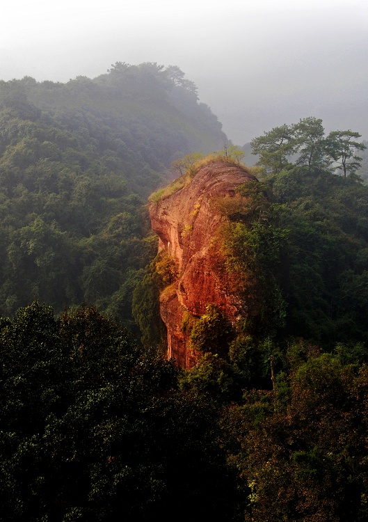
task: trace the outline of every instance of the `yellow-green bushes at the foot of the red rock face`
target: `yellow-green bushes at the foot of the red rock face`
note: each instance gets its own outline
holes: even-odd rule
[[[248,319],[232,325],[214,305],[207,305],[201,317],[186,313],[182,329],[195,365],[184,372],[181,386],[216,402],[239,402],[245,388],[270,388],[271,354],[278,368],[282,365],[282,354],[271,340],[249,335]]]

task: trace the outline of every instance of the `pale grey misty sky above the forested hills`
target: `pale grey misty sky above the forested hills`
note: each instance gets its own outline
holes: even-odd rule
[[[322,118],[368,139],[367,0],[2,0],[0,79],[178,65],[234,143]]]

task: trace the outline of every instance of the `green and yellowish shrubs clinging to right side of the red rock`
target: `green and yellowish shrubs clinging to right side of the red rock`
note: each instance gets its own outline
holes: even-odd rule
[[[266,189],[250,181],[237,188],[240,198],[228,203],[224,198],[227,221],[218,230],[229,283],[246,304],[248,333],[262,338],[285,326],[282,263],[288,242],[288,230],[276,226]]]

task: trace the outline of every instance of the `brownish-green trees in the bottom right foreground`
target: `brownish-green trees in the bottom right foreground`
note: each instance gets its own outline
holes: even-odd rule
[[[247,393],[227,411],[246,521],[365,519],[366,374],[322,354],[278,379],[273,392]]]

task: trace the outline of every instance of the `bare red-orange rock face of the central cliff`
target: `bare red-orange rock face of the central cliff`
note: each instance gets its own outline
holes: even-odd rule
[[[202,166],[187,187],[150,203],[159,251],[164,249],[176,267],[175,282],[161,292],[160,311],[168,332],[168,357],[182,367],[194,363],[182,327],[185,315],[200,317],[209,303],[233,324],[244,314],[243,303],[227,280],[217,232],[226,220],[223,203],[235,201],[235,189],[254,180],[245,168],[216,161]]]

